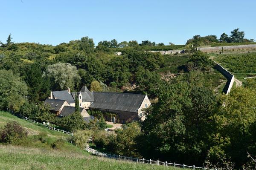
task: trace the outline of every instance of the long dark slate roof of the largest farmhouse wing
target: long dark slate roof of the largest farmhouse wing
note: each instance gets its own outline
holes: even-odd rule
[[[115,92],[93,92],[90,108],[137,112],[145,95]]]

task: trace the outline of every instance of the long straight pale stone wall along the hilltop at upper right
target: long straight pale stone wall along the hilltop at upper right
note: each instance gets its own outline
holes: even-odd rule
[[[239,45],[239,46],[214,46],[214,47],[198,47],[197,50],[202,52],[222,52],[225,51],[242,51],[256,50],[256,44]]]

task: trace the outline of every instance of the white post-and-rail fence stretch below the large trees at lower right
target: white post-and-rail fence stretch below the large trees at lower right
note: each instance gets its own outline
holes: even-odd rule
[[[195,165],[193,166],[188,166],[185,164],[176,164],[176,163],[169,163],[167,161],[154,161],[151,159],[140,159],[140,158],[132,158],[132,157],[127,157],[127,156],[120,156],[120,155],[115,155],[115,154],[108,154],[108,153],[102,153],[97,150],[94,150],[90,147],[85,148],[86,151],[96,155],[96,156],[102,156],[105,158],[111,158],[111,159],[117,159],[117,160],[122,160],[122,161],[133,161],[137,163],[142,163],[142,164],[155,164],[155,165],[163,165],[163,166],[173,166],[173,167],[180,167],[180,168],[189,168],[189,169],[202,169],[202,170],[217,170],[217,169],[209,169],[206,167],[196,167]]]

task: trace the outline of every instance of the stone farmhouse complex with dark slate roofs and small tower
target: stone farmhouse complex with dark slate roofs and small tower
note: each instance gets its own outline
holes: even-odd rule
[[[112,122],[127,123],[134,120],[144,120],[142,109],[151,105],[147,95],[117,93],[117,92],[90,92],[83,86],[80,92],[70,92],[70,89],[51,92],[45,104],[50,105],[50,111],[57,116],[67,116],[75,112],[75,96],[79,98],[80,113],[84,121],[94,119],[87,112],[88,109],[101,110],[111,113],[105,119]]]

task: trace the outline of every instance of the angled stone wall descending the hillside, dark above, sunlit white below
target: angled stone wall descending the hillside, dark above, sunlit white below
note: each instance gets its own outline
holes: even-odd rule
[[[215,61],[214,61],[215,62]],[[216,62],[215,62],[216,63]],[[230,93],[230,90],[233,86],[234,83],[234,75],[231,74],[229,71],[227,71],[226,69],[224,69],[221,65],[219,65],[218,63],[216,63],[215,65],[215,69],[217,69],[219,72],[221,72],[222,75],[225,76],[225,78],[227,78],[227,83],[223,89],[222,92],[228,94]]]

